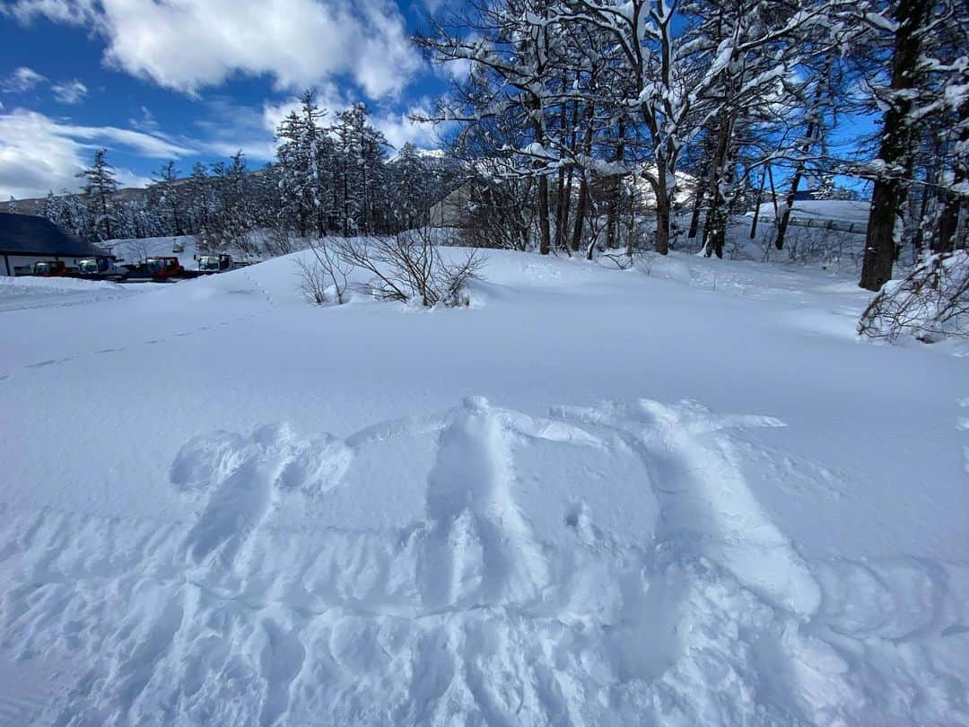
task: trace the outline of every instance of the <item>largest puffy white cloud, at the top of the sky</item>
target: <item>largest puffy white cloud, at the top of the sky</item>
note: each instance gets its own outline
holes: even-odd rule
[[[421,66],[391,0],[15,0],[4,12],[88,27],[111,65],[189,93],[243,73],[289,89],[348,77],[378,99]]]

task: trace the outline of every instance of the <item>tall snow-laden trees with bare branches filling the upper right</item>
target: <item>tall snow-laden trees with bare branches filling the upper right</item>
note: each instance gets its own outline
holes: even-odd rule
[[[702,236],[719,257],[731,214],[762,201],[775,176],[781,249],[808,174],[872,189],[863,287],[891,277],[903,240],[965,244],[969,14],[958,0],[471,0],[418,43],[464,71],[427,120],[462,122],[457,153],[527,191],[525,205],[520,194],[496,204],[510,225],[534,217],[544,253],[577,251],[596,225],[614,244],[644,184],[649,246],[666,254]],[[877,132],[839,152],[859,114]]]

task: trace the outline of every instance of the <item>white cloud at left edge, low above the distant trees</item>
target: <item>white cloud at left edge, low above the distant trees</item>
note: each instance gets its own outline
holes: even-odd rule
[[[193,153],[184,145],[130,129],[79,126],[37,111],[15,109],[0,114],[0,199],[77,189],[75,174],[102,145],[158,159]],[[124,169],[118,170],[118,180],[124,185],[145,181]]]

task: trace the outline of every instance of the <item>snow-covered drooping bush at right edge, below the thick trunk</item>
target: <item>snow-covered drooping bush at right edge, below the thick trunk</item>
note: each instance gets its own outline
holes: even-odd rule
[[[969,337],[969,251],[932,255],[906,277],[886,283],[861,314],[858,332],[889,340],[911,335],[927,343]]]

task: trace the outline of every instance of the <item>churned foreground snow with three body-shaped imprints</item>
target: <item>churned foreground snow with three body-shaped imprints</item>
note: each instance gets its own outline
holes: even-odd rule
[[[45,724],[965,718],[965,568],[805,561],[744,481],[743,430],[778,426],[475,396],[347,437],[204,434],[171,467],[187,521],[3,506],[0,653],[83,665]],[[426,455],[422,517],[323,522],[395,444]],[[566,471],[588,496],[536,509],[530,489]]]

